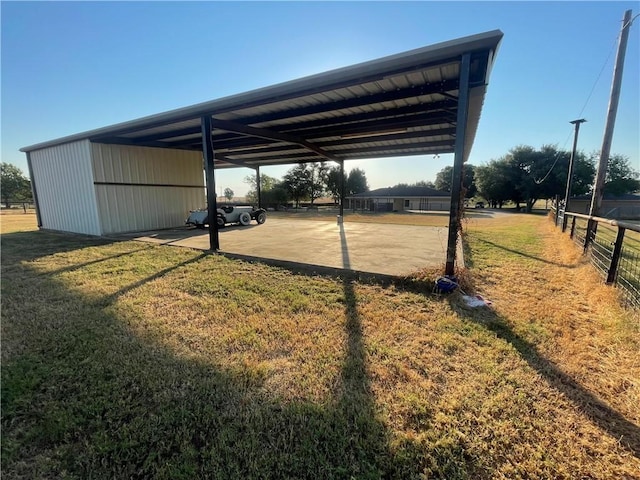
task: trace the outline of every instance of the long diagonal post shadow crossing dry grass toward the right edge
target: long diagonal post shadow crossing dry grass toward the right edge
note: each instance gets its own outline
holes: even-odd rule
[[[529,366],[538,372],[553,389],[573,403],[600,429],[619,440],[634,456],[640,458],[640,427],[638,425],[627,420],[571,375],[541,355],[535,345],[515,333],[508,321],[493,310],[482,308],[482,310],[470,311],[461,307],[455,300],[450,300],[449,303],[460,317],[482,325],[513,346]]]

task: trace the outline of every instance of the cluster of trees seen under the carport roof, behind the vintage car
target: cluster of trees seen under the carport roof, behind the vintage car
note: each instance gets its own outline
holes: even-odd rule
[[[364,170],[354,168],[343,175],[345,195],[368,192],[369,184]],[[255,175],[245,177],[249,184],[247,202],[258,203],[257,179]],[[296,165],[290,168],[282,179],[260,175],[260,196],[266,206],[286,205],[308,201],[311,205],[321,197],[330,196],[335,203],[340,199],[340,167],[330,167],[325,162]]]

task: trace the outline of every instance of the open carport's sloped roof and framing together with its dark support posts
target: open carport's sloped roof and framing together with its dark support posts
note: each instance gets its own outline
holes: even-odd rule
[[[454,154],[446,272],[459,230],[463,164],[502,39],[494,30],[26,147],[74,140],[202,152],[209,218],[215,170],[331,160]],[[35,186],[37,179],[33,178]],[[37,192],[34,192],[37,198]],[[259,197],[258,192],[258,197]],[[341,195],[344,198],[344,191]],[[343,204],[340,213],[343,213]],[[36,205],[38,207],[38,205]],[[216,222],[209,224],[218,250]]]

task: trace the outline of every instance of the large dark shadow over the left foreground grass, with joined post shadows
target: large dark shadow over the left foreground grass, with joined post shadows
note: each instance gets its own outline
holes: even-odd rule
[[[3,270],[110,243],[62,237],[3,237]],[[34,239],[46,242],[21,248]],[[390,450],[352,279],[342,283],[341,373],[333,398],[322,404],[278,397],[259,370],[179,356],[110,308],[123,293],[204,255],[158,270],[97,305],[28,266],[5,276],[13,285],[2,297],[3,341],[18,345],[2,368],[7,478],[407,478],[427,467],[453,478],[417,448],[401,456]],[[28,318],[17,308],[24,302],[30,302]]]

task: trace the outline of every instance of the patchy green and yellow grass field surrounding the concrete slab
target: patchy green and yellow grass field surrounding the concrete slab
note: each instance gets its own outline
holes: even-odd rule
[[[490,309],[2,215],[3,477],[640,478],[637,312],[546,218],[465,225]]]

